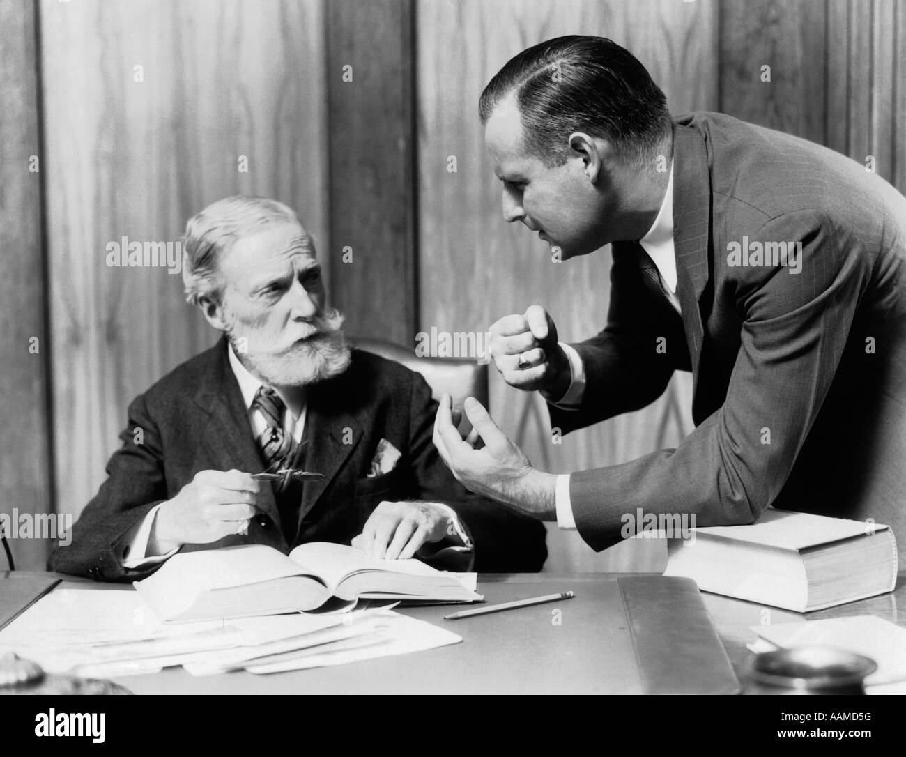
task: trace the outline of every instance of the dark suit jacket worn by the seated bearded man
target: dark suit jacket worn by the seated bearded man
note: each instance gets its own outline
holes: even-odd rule
[[[295,539],[287,544],[271,485],[258,503],[247,536],[229,536],[183,550],[269,544],[287,553],[308,541],[349,544],[381,500],[430,500],[456,510],[475,543],[471,569],[535,571],[545,562],[542,524],[502,510],[468,492],[431,442],[437,403],[428,384],[400,364],[355,350],[342,375],[310,386],[303,439],[307,470],[325,480],[304,484]],[[143,443],[133,430],[143,430]],[[226,340],[184,363],[134,400],[123,445],[107,466],[108,479],[82,512],[72,543],[58,547],[50,568],[98,580],[135,580],[113,547],[157,503],[169,500],[198,471],[256,472],[264,462],[226,352]],[[393,471],[367,474],[381,438],[401,453]]]

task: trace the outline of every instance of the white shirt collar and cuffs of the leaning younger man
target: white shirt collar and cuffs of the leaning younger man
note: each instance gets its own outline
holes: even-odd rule
[[[678,313],[681,313],[679,296],[677,294],[677,261],[673,248],[673,162],[670,161],[670,176],[667,179],[667,191],[660,202],[657,218],[639,240],[654,265],[658,268],[660,286]],[[585,368],[582,358],[573,347],[561,343],[564,353],[569,359],[572,381],[564,396],[553,403],[564,410],[576,410],[582,403],[585,392]],[[573,516],[573,503],[569,496],[569,473],[557,476],[555,484],[554,502],[557,511],[557,526],[564,530],[575,530],[575,517]]]

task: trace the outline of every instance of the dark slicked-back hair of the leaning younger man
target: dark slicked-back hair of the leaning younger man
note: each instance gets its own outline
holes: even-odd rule
[[[523,147],[548,168],[566,160],[573,131],[611,141],[625,160],[640,165],[670,134],[660,87],[632,53],[604,37],[557,37],[516,55],[481,93],[482,123],[511,92]]]

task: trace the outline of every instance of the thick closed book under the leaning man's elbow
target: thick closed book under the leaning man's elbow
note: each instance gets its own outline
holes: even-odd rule
[[[805,613],[892,591],[892,530],[859,520],[765,510],[749,526],[692,529],[670,539],[665,576],[702,591]]]

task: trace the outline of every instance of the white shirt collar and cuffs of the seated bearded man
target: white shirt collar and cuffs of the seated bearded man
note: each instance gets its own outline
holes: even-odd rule
[[[227,350],[229,354],[229,365],[233,370],[233,374],[236,376],[236,382],[239,384],[239,391],[242,393],[242,400],[246,404],[246,411],[248,412],[248,422],[252,426],[255,440],[257,440],[267,429],[267,420],[261,411],[252,407],[252,403],[255,402],[255,395],[258,393],[258,390],[264,386],[264,383],[262,383],[255,374],[250,373],[245,365],[239,362],[239,358],[236,357],[236,353],[233,351],[233,345],[228,345]],[[275,391],[280,396],[280,399],[283,400],[285,406],[283,417],[284,433],[292,435],[296,443],[301,442],[302,434],[305,429],[305,415],[308,407],[307,403],[305,403],[304,391],[300,390],[298,393],[284,393],[280,390]],[[178,549],[171,549],[163,555],[148,554],[148,541],[151,536],[151,527],[154,524],[154,518],[162,504],[163,502],[151,508],[151,510],[148,511],[148,514],[141,519],[140,523],[133,526],[123,535],[122,539],[120,539],[120,545],[117,551],[120,555],[120,562],[123,568],[146,568],[151,565],[157,565],[159,562],[163,562],[178,551]],[[435,504],[444,511],[448,522],[452,524],[456,534],[448,534],[446,539],[436,545],[424,545],[419,549],[419,556],[425,556],[426,553],[434,555],[440,548],[448,548],[464,554],[470,552],[472,550],[472,542],[468,538],[466,530],[463,529],[462,524],[459,522],[456,511],[441,502]]]

